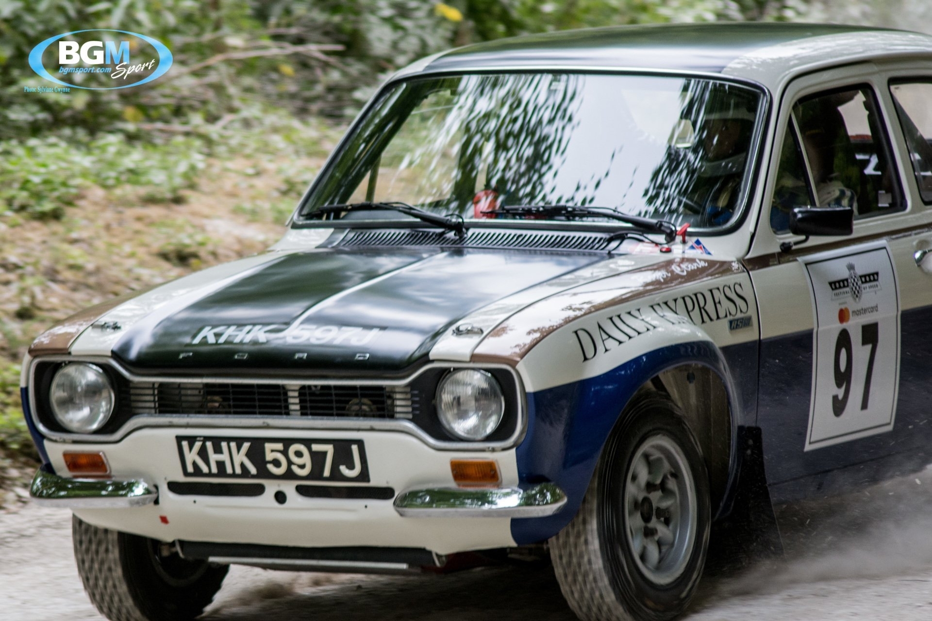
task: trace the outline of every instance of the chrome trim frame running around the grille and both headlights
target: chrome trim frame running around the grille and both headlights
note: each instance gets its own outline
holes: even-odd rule
[[[52,431],[42,425],[35,407],[35,366],[40,362],[91,362],[94,364],[108,364],[130,382],[171,382],[178,384],[270,384],[270,385],[378,385],[378,386],[404,386],[413,382],[418,375],[438,367],[445,369],[504,369],[511,372],[518,395],[518,424],[514,434],[509,439],[500,442],[464,442],[456,440],[439,440],[432,438],[423,429],[411,421],[404,419],[370,419],[370,418],[312,418],[288,416],[270,418],[266,416],[214,416],[212,414],[187,414],[182,416],[162,416],[156,414],[139,414],[130,418],[126,425],[120,427],[112,434],[71,434]],[[55,442],[93,442],[114,443],[126,438],[136,429],[144,427],[223,427],[230,429],[321,429],[321,430],[347,430],[347,431],[393,431],[414,436],[432,449],[438,451],[505,451],[516,446],[528,429],[527,403],[524,385],[521,377],[514,367],[506,364],[476,364],[472,362],[432,361],[418,371],[401,379],[296,379],[296,378],[232,378],[215,376],[149,376],[136,375],[124,369],[117,360],[105,356],[44,356],[34,358],[29,370],[29,404],[30,415],[39,432],[46,438]],[[302,420],[303,419],[303,420]]]

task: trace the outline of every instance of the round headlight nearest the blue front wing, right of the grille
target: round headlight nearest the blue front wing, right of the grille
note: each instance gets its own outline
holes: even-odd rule
[[[437,416],[459,439],[480,440],[495,431],[505,413],[501,386],[487,371],[460,369],[437,386]]]

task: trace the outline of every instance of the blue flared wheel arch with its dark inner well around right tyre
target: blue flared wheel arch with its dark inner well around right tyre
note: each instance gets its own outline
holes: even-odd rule
[[[684,412],[709,466],[713,516],[725,511],[737,478],[735,412],[742,404],[720,348],[695,332],[699,338],[662,346],[596,378],[528,394],[528,434],[517,450],[521,482],[554,481],[569,502],[555,516],[513,520],[517,543],[548,539],[569,524],[612,430],[644,390],[665,392]],[[703,399],[703,407],[688,407],[691,398]],[[724,429],[723,440],[716,434]]]

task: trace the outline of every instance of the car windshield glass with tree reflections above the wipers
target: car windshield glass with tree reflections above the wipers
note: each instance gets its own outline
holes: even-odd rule
[[[302,216],[327,205],[404,202],[467,220],[540,220],[503,208],[572,205],[719,227],[747,194],[761,101],[754,88],[676,76],[410,79],[381,94]],[[384,209],[320,216],[406,217]]]

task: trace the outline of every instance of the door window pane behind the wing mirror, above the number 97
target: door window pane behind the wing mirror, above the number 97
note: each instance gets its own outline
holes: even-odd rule
[[[905,209],[876,97],[868,86],[793,106],[816,207],[847,206],[856,218]]]

